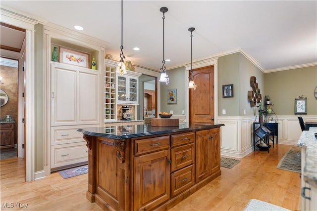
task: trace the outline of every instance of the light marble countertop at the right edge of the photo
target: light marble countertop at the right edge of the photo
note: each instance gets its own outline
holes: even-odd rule
[[[306,147],[306,164],[304,168],[304,180],[311,185],[317,186],[317,140],[315,133],[317,127],[310,127],[304,130],[297,142],[300,147]]]

